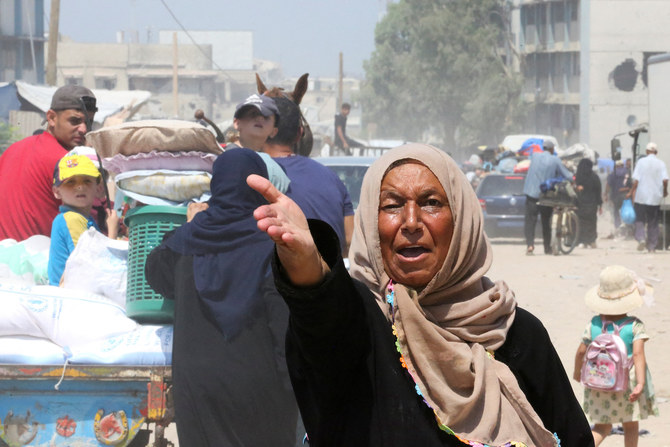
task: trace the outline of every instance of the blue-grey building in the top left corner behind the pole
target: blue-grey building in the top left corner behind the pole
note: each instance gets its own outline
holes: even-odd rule
[[[0,82],[44,83],[44,0],[0,0]]]

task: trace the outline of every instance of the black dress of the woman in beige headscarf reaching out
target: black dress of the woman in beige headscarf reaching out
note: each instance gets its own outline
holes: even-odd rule
[[[295,288],[275,258],[277,289],[289,305],[287,362],[310,445],[463,446],[437,426],[398,360],[395,338],[369,290],[348,275],[337,237],[310,221],[331,267],[314,288]],[[517,378],[545,427],[562,446],[593,436],[542,323],[523,309],[495,353]]]

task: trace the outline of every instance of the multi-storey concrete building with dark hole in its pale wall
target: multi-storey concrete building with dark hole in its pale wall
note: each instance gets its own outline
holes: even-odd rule
[[[648,119],[646,62],[670,50],[670,1],[510,0],[508,6],[531,106],[519,130],[554,135],[564,147],[586,143],[608,157],[615,134]]]

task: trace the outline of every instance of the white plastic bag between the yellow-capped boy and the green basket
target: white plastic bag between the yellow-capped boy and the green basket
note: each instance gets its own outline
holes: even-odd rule
[[[65,264],[61,286],[103,295],[125,309],[128,241],[117,241],[89,228]]]

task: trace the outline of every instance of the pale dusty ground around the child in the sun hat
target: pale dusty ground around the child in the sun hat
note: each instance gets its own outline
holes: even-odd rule
[[[654,307],[643,307],[633,315],[644,321],[651,339],[646,343],[647,362],[656,388],[659,417],[640,422],[649,434],[640,436],[639,447],[670,447],[670,251],[647,254],[636,251],[634,240],[606,239],[611,224],[607,216],[600,219],[598,248],[576,248],[567,256],[525,256],[521,239],[492,239],[492,279],[504,279],[525,307],[546,326],[572,376],[574,355],[584,326],[592,312],[584,305],[586,291],[598,284],[600,271],[608,265],[628,267],[654,287]],[[541,240],[536,240],[541,247]],[[541,250],[540,250],[541,251]],[[581,402],[582,386],[573,381],[575,395]],[[166,433],[177,445],[174,424]],[[623,446],[623,435],[608,436],[602,447]],[[570,447],[570,446],[566,446]]]

